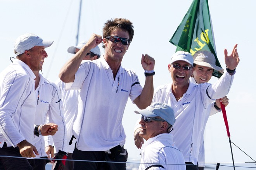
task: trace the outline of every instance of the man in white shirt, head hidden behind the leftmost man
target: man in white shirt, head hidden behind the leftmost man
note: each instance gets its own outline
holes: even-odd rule
[[[36,116],[35,124],[45,124],[47,117],[49,122],[54,122],[58,125],[58,131],[54,136],[39,136],[33,141],[38,150],[39,155],[29,159],[30,165],[34,170],[45,170],[47,156],[51,154],[54,158],[54,148],[52,144],[45,143],[45,138],[52,138],[54,141],[55,150],[59,155],[57,159],[65,159],[67,156],[67,130],[63,116],[62,100],[57,86],[44,78],[39,71],[33,71],[36,75],[35,82],[35,97],[36,97]],[[48,141],[48,140],[47,140]],[[45,158],[45,159],[36,159]],[[58,163],[58,164],[57,164]],[[57,160],[57,167],[63,167],[65,161]]]

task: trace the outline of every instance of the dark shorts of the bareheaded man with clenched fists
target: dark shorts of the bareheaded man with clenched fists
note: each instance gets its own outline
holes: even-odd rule
[[[104,151],[80,151],[76,147],[73,152],[74,170],[126,170],[127,151],[122,151],[115,159],[111,160]],[[87,160],[87,161],[76,161]],[[102,162],[94,162],[102,161]],[[110,163],[123,162],[123,163]]]

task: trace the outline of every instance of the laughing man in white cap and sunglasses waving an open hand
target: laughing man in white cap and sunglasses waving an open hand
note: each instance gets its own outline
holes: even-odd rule
[[[235,68],[240,59],[237,53],[237,44],[228,56],[224,50],[226,71],[214,84],[189,82],[193,74],[194,59],[190,53],[177,51],[173,54],[168,70],[171,73],[172,83],[156,88],[152,102],[169,104],[175,112],[175,131],[173,140],[182,151],[187,170],[197,170],[201,133],[205,121],[205,109],[214,102],[228,94],[233,82]],[[175,128],[176,127],[176,128]],[[140,129],[138,129],[139,131]],[[135,145],[140,148],[142,141],[136,138]]]

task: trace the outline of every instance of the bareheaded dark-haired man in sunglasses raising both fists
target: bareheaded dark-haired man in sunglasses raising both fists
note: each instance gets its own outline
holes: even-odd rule
[[[103,39],[93,34],[60,71],[59,77],[66,83],[66,89],[81,89],[73,125],[77,140],[73,159],[90,162],[75,161],[74,170],[126,169],[128,153],[124,149],[126,135],[122,125],[126,102],[130,97],[140,109],[145,109],[151,104],[154,92],[153,58],[142,54],[141,64],[146,76],[144,88],[134,71],[121,66],[133,33],[130,20],[107,20]],[[80,65],[83,56],[102,41],[105,54]]]

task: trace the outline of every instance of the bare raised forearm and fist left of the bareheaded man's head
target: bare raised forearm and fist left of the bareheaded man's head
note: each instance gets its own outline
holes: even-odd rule
[[[76,53],[65,65],[61,68],[59,78],[62,82],[71,83],[74,82],[76,71],[78,70],[81,61],[84,56],[90,51],[90,49],[96,47],[102,42],[102,37],[97,34],[92,34],[88,42],[83,46],[78,53]]]

